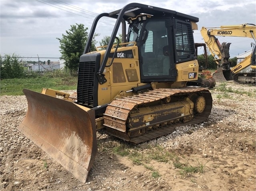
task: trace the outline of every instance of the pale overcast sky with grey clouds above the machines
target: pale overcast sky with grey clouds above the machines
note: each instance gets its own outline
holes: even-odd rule
[[[0,53],[20,56],[60,57],[61,38],[71,25],[91,24],[100,13],[123,8],[131,0],[0,0]],[[199,18],[195,42],[204,42],[200,29],[222,25],[256,24],[256,0],[141,0],[157,6]],[[96,31],[111,35],[115,22],[101,19]],[[251,49],[253,39],[218,37],[220,43],[231,42],[230,57]]]

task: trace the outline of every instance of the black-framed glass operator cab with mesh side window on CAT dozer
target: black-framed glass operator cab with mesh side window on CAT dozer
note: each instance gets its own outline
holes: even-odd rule
[[[127,42],[139,49],[141,82],[176,81],[175,64],[195,59],[190,22],[141,14],[128,24]]]

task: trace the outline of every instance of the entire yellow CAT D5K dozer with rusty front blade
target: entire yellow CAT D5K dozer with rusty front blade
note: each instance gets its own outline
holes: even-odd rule
[[[91,51],[102,17],[116,23],[108,45]],[[85,182],[97,153],[97,130],[138,144],[203,122],[212,95],[189,84],[198,80],[196,22],[194,16],[138,3],[99,14],[80,57],[77,93],[25,89],[28,113],[18,129]]]

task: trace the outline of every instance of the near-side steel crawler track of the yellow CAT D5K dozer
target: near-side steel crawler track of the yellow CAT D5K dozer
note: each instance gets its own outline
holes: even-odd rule
[[[113,100],[104,114],[104,125],[109,134],[138,144],[170,134],[178,126],[199,124],[211,110],[207,88],[154,89]]]

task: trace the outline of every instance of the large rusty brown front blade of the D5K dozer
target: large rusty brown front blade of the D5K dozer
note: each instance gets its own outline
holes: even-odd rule
[[[27,89],[23,92],[28,112],[18,129],[85,183],[97,154],[94,110]]]

